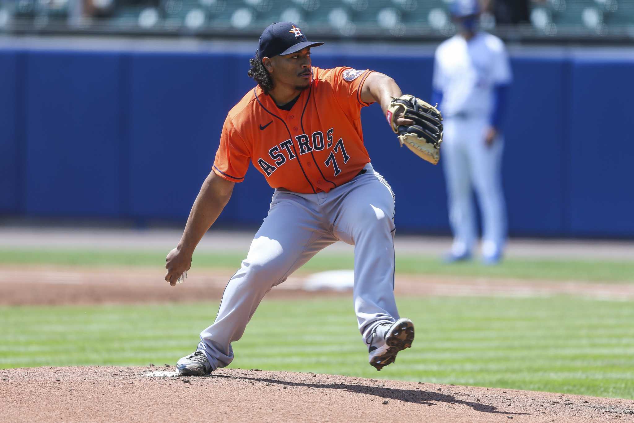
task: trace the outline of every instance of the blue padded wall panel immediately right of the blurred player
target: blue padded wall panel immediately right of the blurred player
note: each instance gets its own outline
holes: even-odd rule
[[[518,58],[505,122],[503,186],[508,226],[559,235],[566,214],[569,66],[561,59]]]

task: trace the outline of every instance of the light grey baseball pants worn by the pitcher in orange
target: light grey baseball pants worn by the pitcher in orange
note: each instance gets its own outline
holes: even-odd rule
[[[242,337],[264,294],[339,240],[354,245],[354,311],[363,339],[378,323],[398,320],[394,193],[370,164],[365,169],[365,174],[328,193],[275,190],[247,258],[224,290],[216,322],[200,334],[198,349],[213,369],[231,363],[231,342]],[[283,320],[282,310],[280,322],[272,324]]]

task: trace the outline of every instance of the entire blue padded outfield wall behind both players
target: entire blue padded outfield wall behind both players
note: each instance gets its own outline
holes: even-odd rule
[[[0,49],[0,214],[184,221],[224,117],[252,88],[247,55]],[[432,57],[313,56],[391,75],[429,98]],[[503,185],[510,233],[634,237],[634,61],[512,58]],[[415,75],[415,77],[413,77]],[[448,233],[442,164],[362,112],[396,223]],[[442,163],[442,159],[441,159]],[[251,168],[219,221],[258,225],[272,190]]]

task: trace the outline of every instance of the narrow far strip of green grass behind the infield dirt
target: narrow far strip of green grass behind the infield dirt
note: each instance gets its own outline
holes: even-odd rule
[[[65,266],[160,266],[165,265],[167,251],[111,251],[68,249],[0,249],[0,264],[59,264]],[[197,253],[192,265],[204,268],[235,270],[244,254],[240,252]],[[351,253],[324,251],[302,270],[325,271],[353,268]],[[396,271],[409,275],[448,275],[588,282],[634,282],[634,261],[519,259],[503,261],[498,266],[483,266],[478,261],[443,264],[438,257],[398,254]]]

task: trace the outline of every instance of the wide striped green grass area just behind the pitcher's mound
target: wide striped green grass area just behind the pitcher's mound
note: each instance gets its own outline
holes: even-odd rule
[[[401,299],[412,349],[376,372],[351,299],[264,301],[232,367],[634,399],[634,307],[570,297]],[[174,365],[216,303],[0,308],[0,367]]]

